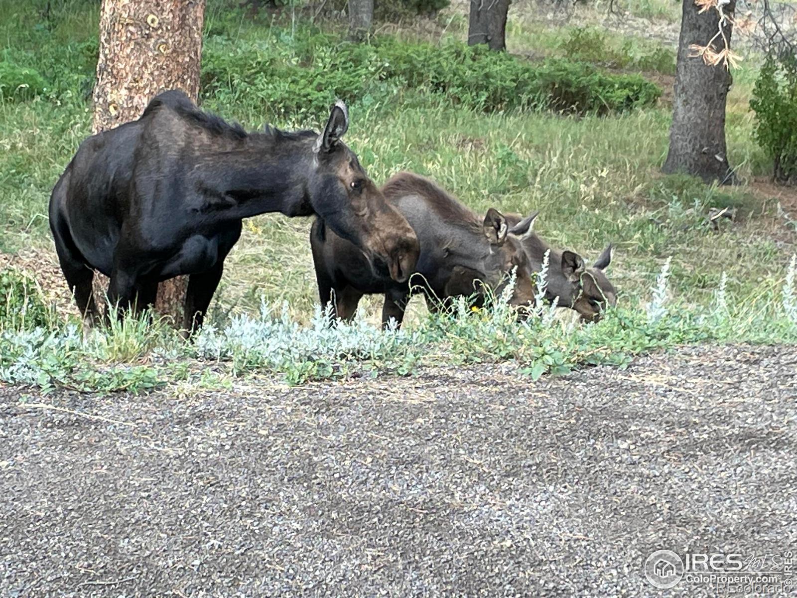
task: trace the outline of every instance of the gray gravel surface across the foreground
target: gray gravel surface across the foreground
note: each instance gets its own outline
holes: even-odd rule
[[[532,383],[0,387],[0,596],[713,596],[656,549],[797,545],[797,348]]]

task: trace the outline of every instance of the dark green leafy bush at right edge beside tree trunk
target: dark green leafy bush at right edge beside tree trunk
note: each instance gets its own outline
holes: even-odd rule
[[[775,180],[797,184],[797,56],[767,57],[750,107],[756,141],[774,161]]]

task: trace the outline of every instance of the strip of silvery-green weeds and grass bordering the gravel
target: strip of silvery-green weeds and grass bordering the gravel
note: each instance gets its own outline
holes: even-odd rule
[[[207,325],[193,343],[147,314],[87,331],[75,325],[25,326],[0,331],[0,380],[80,391],[145,391],[184,382],[202,388],[230,384],[247,372],[282,376],[289,384],[347,376],[407,374],[423,365],[465,365],[514,360],[536,380],[583,364],[625,366],[639,352],[699,342],[791,343],[797,340],[797,263],[792,258],[780,289],[740,303],[723,275],[713,305],[687,306],[670,296],[668,259],[640,305],[609,309],[597,324],[579,326],[556,318],[540,301],[536,315],[519,323],[508,306],[511,288],[490,309],[457,301],[450,314],[430,314],[417,325],[382,331],[363,317],[333,323],[331,311],[314,310],[308,325],[292,319],[287,305],[261,302],[259,313],[222,327]],[[210,367],[209,367],[210,366]]]

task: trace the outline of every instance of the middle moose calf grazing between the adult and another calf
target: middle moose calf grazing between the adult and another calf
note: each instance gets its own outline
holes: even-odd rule
[[[351,318],[363,295],[383,293],[383,323],[394,318],[401,324],[414,290],[422,290],[434,309],[448,297],[473,294],[480,282],[500,291],[513,269],[517,277],[512,305],[526,305],[533,298],[518,236],[528,224],[510,227],[494,209],[478,217],[433,181],[409,172],[393,176],[382,191],[418,236],[421,252],[414,276],[409,282],[391,280],[378,261],[369,262],[356,246],[316,218],[310,242],[320,300],[326,305],[334,298],[338,317]]]

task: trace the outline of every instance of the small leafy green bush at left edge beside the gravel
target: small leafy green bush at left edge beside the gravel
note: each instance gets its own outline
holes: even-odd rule
[[[0,331],[46,326],[52,319],[33,280],[17,269],[0,270]]]

